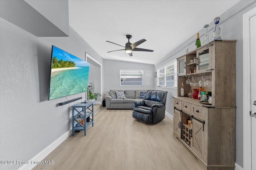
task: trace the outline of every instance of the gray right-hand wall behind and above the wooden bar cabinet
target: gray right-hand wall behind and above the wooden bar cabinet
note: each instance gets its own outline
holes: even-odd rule
[[[250,11],[252,8],[256,7],[255,0],[241,0],[235,4],[232,8],[224,12],[220,16],[220,29],[222,39],[236,39],[236,163],[243,167],[243,14]],[[213,20],[214,18],[212,18]],[[213,21],[210,23],[202,23],[202,27],[205,24],[210,25],[209,36],[210,40],[213,38],[212,32],[214,28]],[[201,43],[204,41],[204,29],[198,30],[200,35]],[[194,50],[194,43],[196,39],[196,33],[193,37],[190,37],[186,42],[168,54],[164,59],[156,63],[155,70],[160,66],[168,63],[186,53],[187,42],[189,44],[189,51]],[[228,68],[227,68],[228,69]],[[157,82],[155,81],[155,88],[158,90],[166,90],[166,88],[160,88],[156,86]],[[226,84],[227,90],[229,89],[229,84]],[[173,109],[173,100],[172,96],[177,96],[176,89],[169,89],[168,98],[170,99],[167,104],[167,112],[172,113]],[[225,129],[223,129],[225,130]]]

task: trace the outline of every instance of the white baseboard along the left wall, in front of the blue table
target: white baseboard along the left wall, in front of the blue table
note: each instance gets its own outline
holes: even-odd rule
[[[63,141],[65,141],[69,136],[71,135],[70,131],[67,131],[64,133],[61,137],[56,139],[53,143],[51,143],[48,147],[43,149],[41,152],[39,152],[36,156],[34,156],[32,159],[29,160],[29,162],[33,161],[42,161],[50,152],[52,152],[56,147],[58,147]],[[24,164],[22,167],[20,167],[18,170],[31,170],[33,169],[37,164]]]

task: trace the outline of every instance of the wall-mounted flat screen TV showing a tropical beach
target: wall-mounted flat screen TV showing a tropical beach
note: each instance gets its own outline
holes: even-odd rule
[[[89,63],[52,45],[48,100],[87,91]]]

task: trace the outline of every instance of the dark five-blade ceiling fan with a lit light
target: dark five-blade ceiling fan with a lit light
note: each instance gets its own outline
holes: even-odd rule
[[[146,39],[141,39],[141,40],[137,41],[136,43],[132,44],[132,43],[130,43],[130,39],[132,38],[132,35],[126,35],[126,38],[128,39],[128,43],[125,44],[125,47],[122,45],[116,44],[116,43],[112,43],[110,41],[106,41],[106,42],[124,47],[124,49],[121,49],[121,50],[125,50],[125,52],[128,53],[130,56],[132,56],[132,51],[148,51],[148,52],[154,51],[154,50],[149,50],[149,49],[136,48],[141,43],[144,43],[145,41],[147,41]],[[114,50],[114,51],[121,51],[121,50]],[[113,52],[113,51],[108,51],[107,53],[110,53],[110,52]]]

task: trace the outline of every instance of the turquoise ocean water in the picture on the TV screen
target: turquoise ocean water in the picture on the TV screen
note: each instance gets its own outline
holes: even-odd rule
[[[51,73],[49,100],[87,91],[89,66]]]

